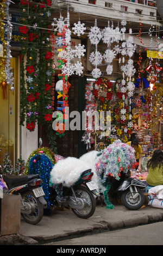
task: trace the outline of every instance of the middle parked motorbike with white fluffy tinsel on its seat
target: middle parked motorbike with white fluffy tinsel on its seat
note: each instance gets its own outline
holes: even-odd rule
[[[80,179],[73,187],[59,184],[49,188],[53,210],[57,206],[64,206],[68,209],[71,208],[79,218],[91,217],[96,209],[95,198],[100,196],[97,192],[96,182],[91,180],[92,175],[91,169],[88,169],[80,175]]]

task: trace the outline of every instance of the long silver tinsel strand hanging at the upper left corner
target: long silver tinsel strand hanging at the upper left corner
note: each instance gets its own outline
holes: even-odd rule
[[[6,75],[6,81],[7,84],[10,85],[10,89],[13,91],[14,87],[14,77],[13,77],[13,73],[11,71],[11,66],[10,66],[10,59],[12,58],[11,56],[11,50],[10,50],[10,41],[11,41],[11,35],[12,35],[12,24],[10,22],[11,20],[11,16],[9,15],[9,5],[10,5],[10,0],[5,1],[5,27],[4,27],[4,31],[5,31],[5,35],[6,35],[6,41],[7,41],[7,45],[5,46],[5,50],[6,50],[6,64],[5,64],[5,75]]]

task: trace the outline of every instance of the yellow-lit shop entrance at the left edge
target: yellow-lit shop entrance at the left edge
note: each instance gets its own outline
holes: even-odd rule
[[[15,167],[17,161],[18,143],[18,57],[11,58],[11,68],[14,74],[14,90],[5,83],[0,88],[0,164],[2,164],[4,154],[9,154],[12,166]]]

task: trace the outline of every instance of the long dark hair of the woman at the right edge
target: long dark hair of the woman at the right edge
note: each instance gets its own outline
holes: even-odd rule
[[[155,168],[159,164],[159,168],[163,164],[163,152],[160,149],[156,149],[153,152],[152,158],[147,163],[147,168],[152,167]]]

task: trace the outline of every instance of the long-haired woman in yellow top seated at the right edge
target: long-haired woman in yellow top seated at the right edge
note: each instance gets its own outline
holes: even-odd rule
[[[152,158],[147,163],[149,186],[163,185],[163,152],[160,149],[154,150]]]

